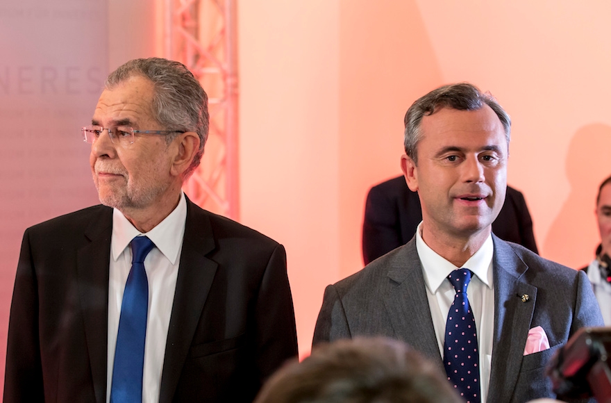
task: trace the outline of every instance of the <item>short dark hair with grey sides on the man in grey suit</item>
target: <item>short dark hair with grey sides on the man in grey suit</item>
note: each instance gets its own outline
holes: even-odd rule
[[[435,113],[435,110],[441,108],[452,108],[458,110],[479,110],[484,105],[489,106],[494,110],[496,116],[499,117],[503,129],[505,129],[505,138],[507,145],[511,137],[511,117],[499,105],[489,92],[481,92],[479,88],[470,83],[457,83],[444,85],[436,90],[429,92],[415,101],[405,113],[405,154],[408,154],[415,164],[418,163],[416,146],[422,140],[422,131],[420,124],[422,117],[430,116]]]

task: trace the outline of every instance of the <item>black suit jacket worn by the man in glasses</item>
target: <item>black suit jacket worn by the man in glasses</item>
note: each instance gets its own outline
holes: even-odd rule
[[[4,402],[106,402],[111,231],[94,206],[24,233]],[[187,201],[160,402],[251,402],[296,354],[283,246]]]

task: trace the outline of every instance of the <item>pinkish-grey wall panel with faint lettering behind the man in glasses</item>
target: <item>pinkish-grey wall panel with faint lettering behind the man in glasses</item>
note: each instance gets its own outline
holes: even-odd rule
[[[97,202],[80,129],[108,74],[105,27],[106,1],[0,7],[1,379],[24,230]]]

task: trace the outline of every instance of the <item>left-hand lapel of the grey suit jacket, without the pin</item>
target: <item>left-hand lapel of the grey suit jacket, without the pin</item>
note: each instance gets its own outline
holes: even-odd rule
[[[444,370],[415,238],[396,255],[388,277],[392,281],[384,296],[384,304],[396,336],[433,359]]]

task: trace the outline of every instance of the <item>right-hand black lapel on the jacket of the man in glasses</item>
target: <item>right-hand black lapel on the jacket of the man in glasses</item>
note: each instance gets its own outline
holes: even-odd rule
[[[217,263],[206,258],[206,254],[213,249],[215,241],[208,213],[187,199],[185,236],[161,375],[161,403],[171,402],[174,397],[203,304],[212,286]]]

